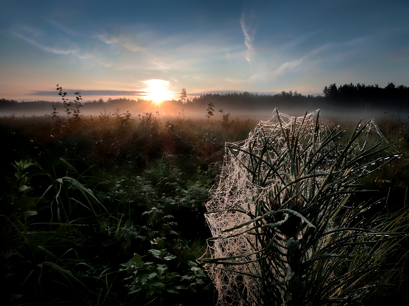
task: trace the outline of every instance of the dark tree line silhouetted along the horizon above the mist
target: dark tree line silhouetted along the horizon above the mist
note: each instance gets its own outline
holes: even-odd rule
[[[388,83],[384,88],[378,84],[365,85],[352,82],[337,86],[335,83],[325,86],[322,90],[323,95],[302,95],[297,91],[281,91],[274,95],[243,92],[229,93],[206,93],[200,97],[188,97],[186,89],[182,89],[180,99],[167,101],[169,105],[184,108],[185,110],[202,108],[213,103],[218,107],[227,107],[234,109],[271,109],[274,107],[325,107],[325,106],[358,106],[361,104],[370,106],[389,106],[401,107],[409,104],[409,87],[405,85],[396,86],[393,82]],[[135,107],[143,105],[147,100],[138,98],[137,100],[127,98],[108,98],[104,101],[99,100],[85,101],[87,109],[103,107]],[[49,107],[55,102],[37,100],[31,102],[17,102],[16,100],[0,99],[0,110],[3,109],[38,109]]]

